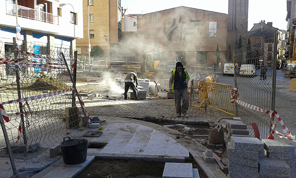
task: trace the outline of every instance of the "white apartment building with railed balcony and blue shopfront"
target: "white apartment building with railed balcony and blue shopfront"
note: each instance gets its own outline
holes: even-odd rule
[[[21,27],[18,44],[28,46],[24,50],[33,44],[40,54],[51,55],[54,46],[71,53],[75,39],[83,38],[81,0],[1,0],[0,17],[1,54],[13,51],[17,24]]]

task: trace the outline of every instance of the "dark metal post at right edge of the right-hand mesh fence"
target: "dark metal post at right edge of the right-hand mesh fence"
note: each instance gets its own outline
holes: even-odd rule
[[[275,109],[275,89],[276,89],[276,67],[277,67],[277,41],[278,32],[274,35],[274,49],[273,49],[273,68],[272,68],[272,96],[271,96],[271,111]],[[269,131],[271,132],[272,122],[274,121],[274,116],[270,122]]]

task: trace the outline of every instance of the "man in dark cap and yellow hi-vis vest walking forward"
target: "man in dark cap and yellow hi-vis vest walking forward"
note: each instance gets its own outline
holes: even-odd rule
[[[185,117],[188,117],[189,95],[187,83],[189,79],[189,75],[183,67],[182,62],[177,62],[176,69],[172,71],[169,80],[169,86],[171,86],[170,90],[174,90],[177,117],[181,117],[181,113],[183,113]],[[183,100],[182,106],[181,99]]]

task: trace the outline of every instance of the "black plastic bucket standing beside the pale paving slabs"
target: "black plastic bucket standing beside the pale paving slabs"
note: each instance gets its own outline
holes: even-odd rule
[[[66,140],[69,138],[68,140]],[[87,140],[86,139],[71,139],[65,137],[60,144],[65,164],[79,164],[86,160]]]

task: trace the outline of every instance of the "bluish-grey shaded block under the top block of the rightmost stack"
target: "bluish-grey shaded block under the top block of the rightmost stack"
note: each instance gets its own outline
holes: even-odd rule
[[[285,161],[259,158],[259,170],[265,173],[291,175],[291,168]]]

